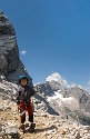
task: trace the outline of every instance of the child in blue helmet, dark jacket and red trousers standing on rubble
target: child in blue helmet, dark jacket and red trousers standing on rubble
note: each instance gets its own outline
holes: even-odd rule
[[[34,123],[33,123],[33,108],[31,103],[31,97],[34,95],[34,90],[28,86],[28,78],[26,76],[21,76],[19,79],[20,88],[17,92],[17,105],[20,110],[20,121],[21,121],[21,129],[24,130],[24,121],[26,121],[26,110],[29,115],[29,121],[31,122],[30,131],[34,131]]]

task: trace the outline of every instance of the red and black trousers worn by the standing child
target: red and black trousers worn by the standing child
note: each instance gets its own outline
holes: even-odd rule
[[[23,123],[26,121],[26,111],[28,111],[29,115],[29,121],[33,122],[33,108],[32,103],[30,101],[21,101],[20,105],[20,121]]]

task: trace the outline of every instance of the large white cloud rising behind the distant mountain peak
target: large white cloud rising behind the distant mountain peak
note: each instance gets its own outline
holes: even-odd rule
[[[52,72],[51,76],[49,76],[48,78],[46,78],[46,81],[52,81],[52,80],[58,81],[64,88],[76,87],[74,83],[69,85],[67,82],[67,80],[64,78],[62,78],[58,72]]]

